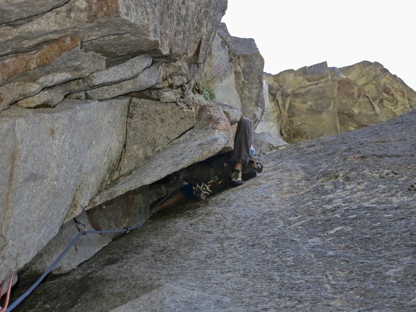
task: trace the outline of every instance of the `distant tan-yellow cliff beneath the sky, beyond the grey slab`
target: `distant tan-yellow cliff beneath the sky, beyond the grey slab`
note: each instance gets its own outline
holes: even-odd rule
[[[416,92],[377,62],[265,76],[288,143],[363,128],[416,108]]]

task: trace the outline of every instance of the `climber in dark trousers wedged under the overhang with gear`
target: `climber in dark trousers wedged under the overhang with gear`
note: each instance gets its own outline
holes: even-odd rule
[[[186,198],[203,199],[229,186],[238,187],[261,171],[263,165],[252,147],[252,124],[250,119],[243,117],[237,124],[234,150],[214,155],[168,176],[167,180],[183,180],[187,184],[166,200],[153,203],[151,213],[172,207]]]

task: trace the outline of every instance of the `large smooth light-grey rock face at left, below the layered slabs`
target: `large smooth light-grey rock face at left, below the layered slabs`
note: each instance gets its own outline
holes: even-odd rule
[[[112,176],[129,103],[67,100],[1,112],[0,218],[8,222],[0,224],[0,279],[32,259]]]

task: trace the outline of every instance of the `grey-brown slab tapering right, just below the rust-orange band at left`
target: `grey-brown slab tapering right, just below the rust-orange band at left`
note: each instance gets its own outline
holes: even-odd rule
[[[49,58],[48,55],[45,57]],[[83,78],[102,69],[105,69],[105,59],[99,55],[81,51],[78,45],[60,54],[52,62],[26,71],[24,76],[2,85],[0,87],[0,111],[15,101],[39,93],[44,87]]]

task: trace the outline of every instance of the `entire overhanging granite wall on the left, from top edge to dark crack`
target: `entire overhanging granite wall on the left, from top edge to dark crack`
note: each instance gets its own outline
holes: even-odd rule
[[[220,105],[199,114],[198,101],[184,100],[227,1],[31,2],[0,0],[1,281],[35,254],[24,274],[42,270],[72,233],[72,219],[99,226],[85,210],[103,212],[116,196],[116,220],[105,224],[130,223],[116,211],[133,206],[131,220],[146,220],[148,184],[231,149],[236,122]],[[92,239],[57,271],[107,241]]]

